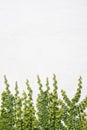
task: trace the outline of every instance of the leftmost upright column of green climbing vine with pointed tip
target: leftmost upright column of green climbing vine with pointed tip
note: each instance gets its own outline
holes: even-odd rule
[[[4,83],[6,89],[1,95],[0,130],[14,130],[14,96],[9,90],[6,76],[4,76]]]

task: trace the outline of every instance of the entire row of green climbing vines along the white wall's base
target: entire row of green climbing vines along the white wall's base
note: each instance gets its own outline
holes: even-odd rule
[[[78,80],[78,88],[72,99],[61,90],[58,97],[56,75],[53,75],[53,91],[46,79],[46,89],[37,76],[39,94],[36,108],[32,98],[32,89],[26,80],[27,91],[19,94],[15,83],[15,94],[10,91],[6,76],[5,90],[1,94],[0,130],[87,130],[87,97],[80,101],[82,78]],[[36,109],[36,111],[35,111]]]

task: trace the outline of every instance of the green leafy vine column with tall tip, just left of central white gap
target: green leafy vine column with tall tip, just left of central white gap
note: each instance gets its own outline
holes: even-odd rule
[[[29,81],[26,81],[28,94],[23,93],[23,130],[34,130],[36,128],[35,109],[33,106],[32,90]]]

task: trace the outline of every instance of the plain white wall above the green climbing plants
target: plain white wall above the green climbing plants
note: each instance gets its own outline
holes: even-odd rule
[[[37,74],[44,82],[53,73],[70,97],[81,75],[87,95],[87,1],[1,0],[1,92],[4,74],[12,91],[16,80],[25,89],[28,78],[35,96]]]

